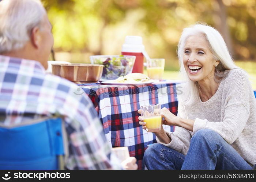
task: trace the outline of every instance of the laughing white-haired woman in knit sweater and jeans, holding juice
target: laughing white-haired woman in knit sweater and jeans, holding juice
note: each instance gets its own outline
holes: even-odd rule
[[[256,99],[220,33],[203,24],[185,28],[178,44],[187,78],[178,115],[162,108],[157,142],[144,154],[147,169],[252,169],[256,163]],[[138,111],[140,113],[140,110]],[[140,125],[146,126],[139,116]]]

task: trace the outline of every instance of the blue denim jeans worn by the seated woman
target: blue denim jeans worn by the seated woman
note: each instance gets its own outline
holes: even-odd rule
[[[193,135],[187,155],[160,143],[154,143],[144,153],[147,169],[226,169],[252,167],[217,132],[201,129]]]

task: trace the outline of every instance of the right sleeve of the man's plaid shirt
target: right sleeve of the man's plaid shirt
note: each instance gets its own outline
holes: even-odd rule
[[[113,169],[111,146],[106,142],[103,126],[89,98],[76,95],[74,85],[60,110],[65,115],[69,157],[68,169]]]

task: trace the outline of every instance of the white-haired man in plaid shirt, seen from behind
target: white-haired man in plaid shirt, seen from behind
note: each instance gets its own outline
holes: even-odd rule
[[[62,116],[68,137],[67,169],[137,169],[136,159],[114,164],[93,104],[77,86],[46,75],[52,25],[39,0],[0,1],[0,122]]]

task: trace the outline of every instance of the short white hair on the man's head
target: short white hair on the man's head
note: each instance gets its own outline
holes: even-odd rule
[[[40,0],[0,1],[0,54],[24,47],[45,14]]]

